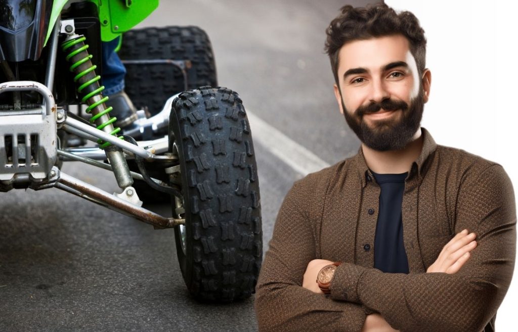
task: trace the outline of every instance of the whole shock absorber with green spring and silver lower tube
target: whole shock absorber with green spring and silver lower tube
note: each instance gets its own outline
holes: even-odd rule
[[[105,105],[108,96],[103,96],[104,85],[99,84],[100,76],[95,73],[97,66],[92,64],[92,55],[88,53],[85,40],[83,35],[69,35],[61,44],[61,48],[66,53],[66,60],[72,63],[70,71],[76,74],[74,82],[79,85],[77,91],[82,96],[81,102],[88,105],[86,112],[92,114],[90,122],[95,123],[97,129],[117,137],[121,129],[113,127],[113,122],[117,121],[117,118],[110,118],[109,112],[112,107],[107,108]],[[133,178],[122,149],[102,140],[97,143],[105,150],[119,187],[125,189],[131,186]]]

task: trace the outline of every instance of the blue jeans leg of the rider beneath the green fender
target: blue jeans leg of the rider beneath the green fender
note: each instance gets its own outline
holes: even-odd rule
[[[111,41],[103,41],[103,85],[105,87],[103,94],[112,95],[124,90],[124,76],[126,68],[122,64],[121,59],[115,49],[119,45],[117,37]]]

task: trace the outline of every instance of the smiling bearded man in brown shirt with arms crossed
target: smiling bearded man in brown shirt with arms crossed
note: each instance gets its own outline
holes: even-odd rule
[[[362,146],[286,195],[256,288],[260,330],[494,331],[514,193],[500,165],[420,126],[431,74],[419,21],[345,6],[326,51]]]

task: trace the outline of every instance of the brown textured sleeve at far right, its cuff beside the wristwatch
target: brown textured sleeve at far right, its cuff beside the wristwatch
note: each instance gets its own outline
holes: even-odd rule
[[[330,285],[335,300],[363,304],[404,331],[481,331],[511,282],[516,210],[511,181],[492,165],[461,184],[455,233],[467,228],[478,246],[457,273],[383,273],[342,264]]]

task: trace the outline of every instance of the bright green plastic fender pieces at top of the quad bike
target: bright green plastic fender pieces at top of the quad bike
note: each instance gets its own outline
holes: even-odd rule
[[[100,37],[103,41],[110,41],[123,32],[147,18],[156,7],[159,0],[85,0],[93,2],[99,8]],[[52,28],[60,16],[68,0],[54,0],[50,14],[49,31],[45,38],[45,45],[52,33]]]

